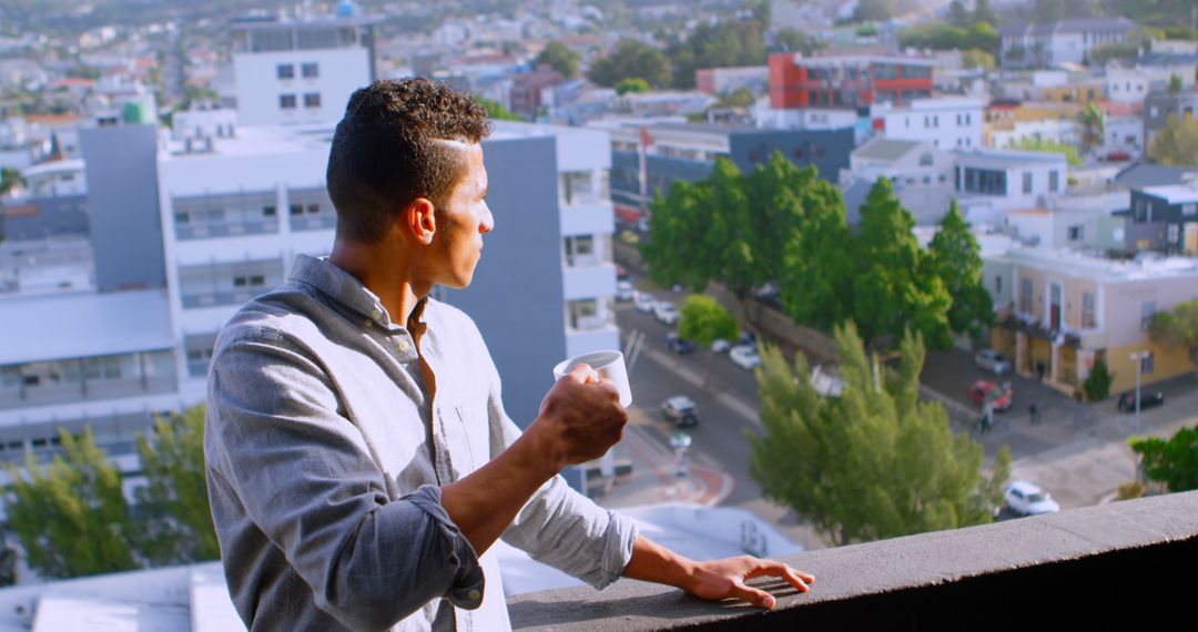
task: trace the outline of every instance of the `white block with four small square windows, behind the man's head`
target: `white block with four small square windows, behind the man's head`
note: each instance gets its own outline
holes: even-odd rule
[[[238,122],[337,122],[353,90],[375,78],[374,19],[335,17],[229,24]]]

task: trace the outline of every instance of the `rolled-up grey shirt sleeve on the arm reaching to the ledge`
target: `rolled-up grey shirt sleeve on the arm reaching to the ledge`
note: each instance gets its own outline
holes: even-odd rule
[[[521,431],[503,409],[502,387],[494,365],[490,373],[488,413],[494,458]],[[623,575],[633,559],[636,537],[635,521],[594,504],[570,488],[561,475],[537,490],[502,535],[504,542],[537,561],[600,590]]]

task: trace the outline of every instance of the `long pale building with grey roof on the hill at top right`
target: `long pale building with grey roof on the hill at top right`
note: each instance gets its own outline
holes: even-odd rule
[[[1085,63],[1095,48],[1126,44],[1138,30],[1138,24],[1121,16],[999,26],[999,57],[1004,66],[1024,68]]]

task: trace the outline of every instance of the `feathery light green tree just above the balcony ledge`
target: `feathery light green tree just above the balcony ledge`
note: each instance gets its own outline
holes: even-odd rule
[[[852,324],[837,328],[836,342],[845,383],[837,399],[816,394],[801,353],[792,370],[776,348],[764,350],[766,431],[749,440],[766,497],[835,545],[991,522],[1010,454],[1004,448],[985,475],[981,445],[950,432],[940,403],[919,401],[919,336],[903,338],[900,367],[887,379]]]

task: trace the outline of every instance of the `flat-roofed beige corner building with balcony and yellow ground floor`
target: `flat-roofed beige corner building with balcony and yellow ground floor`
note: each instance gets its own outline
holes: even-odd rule
[[[1112,394],[1136,387],[1133,353],[1146,353],[1143,384],[1194,370],[1188,351],[1154,342],[1148,323],[1157,311],[1198,298],[1198,259],[1113,261],[1012,249],[986,263],[986,287],[1006,288],[994,296],[1000,324],[992,342],[1019,373],[1042,376],[1073,395],[1099,358],[1114,376]]]

